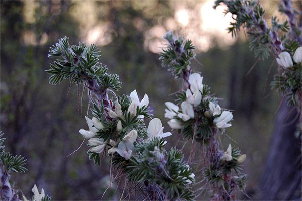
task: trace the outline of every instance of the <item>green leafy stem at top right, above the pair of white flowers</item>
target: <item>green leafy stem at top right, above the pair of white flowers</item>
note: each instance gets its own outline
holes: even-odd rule
[[[272,28],[269,28],[265,20],[265,10],[255,0],[216,0],[214,9],[224,3],[228,9],[225,13],[236,15],[236,21],[230,22],[229,32],[232,36],[236,36],[236,32],[240,27],[246,27],[250,41],[250,49],[254,51],[255,56],[262,60],[269,57],[274,46],[278,43],[278,51],[282,51],[283,47],[280,45],[278,39],[278,31],[282,30],[287,33],[289,31],[289,24],[287,21],[279,23],[277,17],[273,16],[271,19]],[[280,46],[279,46],[280,45]]]

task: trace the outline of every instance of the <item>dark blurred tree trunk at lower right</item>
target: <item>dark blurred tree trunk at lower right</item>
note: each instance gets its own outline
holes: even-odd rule
[[[263,200],[294,200],[301,197],[301,137],[294,132],[299,121],[284,100],[276,116],[265,169],[260,179]]]

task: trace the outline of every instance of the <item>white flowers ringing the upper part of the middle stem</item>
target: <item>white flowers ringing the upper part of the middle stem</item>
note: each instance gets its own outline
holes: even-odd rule
[[[182,129],[183,122],[186,122],[195,117],[194,108],[198,107],[202,102],[206,102],[207,97],[202,98],[203,77],[199,73],[193,73],[189,76],[188,82],[190,87],[186,90],[186,100],[180,104],[180,108],[171,103],[166,102],[165,117],[169,118],[169,126],[172,129]],[[227,128],[232,126],[229,122],[233,119],[233,115],[229,111],[221,112],[221,107],[213,102],[208,103],[209,109],[204,112],[204,116],[213,118],[213,124],[217,128]]]

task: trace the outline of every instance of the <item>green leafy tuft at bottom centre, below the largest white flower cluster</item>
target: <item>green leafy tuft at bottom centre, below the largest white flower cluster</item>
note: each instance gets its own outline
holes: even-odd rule
[[[187,185],[194,182],[191,169],[183,162],[183,154],[171,148],[166,152],[164,139],[152,138],[136,145],[137,156],[125,162],[122,169],[128,174],[129,181],[156,184],[166,192],[168,199],[192,200],[194,194]],[[119,157],[119,156],[117,156]],[[116,156],[113,164],[118,164]]]

